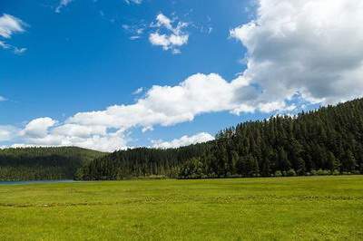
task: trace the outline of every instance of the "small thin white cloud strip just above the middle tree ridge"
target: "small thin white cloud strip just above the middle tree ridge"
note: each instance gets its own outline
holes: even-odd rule
[[[152,147],[160,149],[179,148],[191,144],[207,142],[210,140],[214,140],[214,137],[211,134],[201,132],[193,136],[182,136],[182,138],[174,139],[172,141],[153,140]]]

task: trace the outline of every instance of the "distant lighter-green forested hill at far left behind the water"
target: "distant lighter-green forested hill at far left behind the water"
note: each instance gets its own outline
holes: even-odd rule
[[[103,155],[75,147],[0,149],[0,180],[75,178],[82,165]]]

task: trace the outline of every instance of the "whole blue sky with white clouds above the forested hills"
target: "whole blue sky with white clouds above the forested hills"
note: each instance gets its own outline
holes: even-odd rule
[[[363,92],[360,0],[2,0],[0,147],[175,148]]]

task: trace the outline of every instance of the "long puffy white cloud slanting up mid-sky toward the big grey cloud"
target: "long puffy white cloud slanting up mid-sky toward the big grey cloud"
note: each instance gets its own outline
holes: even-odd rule
[[[153,86],[145,97],[130,105],[114,105],[104,111],[80,112],[66,120],[67,123],[86,126],[106,126],[128,130],[133,127],[150,128],[154,125],[171,126],[191,121],[207,112],[274,111],[287,107],[260,102],[256,106],[250,96],[258,90],[248,80],[238,77],[227,82],[220,75],[194,74],[176,86]]]

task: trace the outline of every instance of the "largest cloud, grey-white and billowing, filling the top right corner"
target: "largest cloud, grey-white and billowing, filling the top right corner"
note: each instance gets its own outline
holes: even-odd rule
[[[247,48],[244,77],[260,100],[284,101],[299,92],[334,103],[363,92],[363,2],[260,0],[257,18],[231,30]]]

